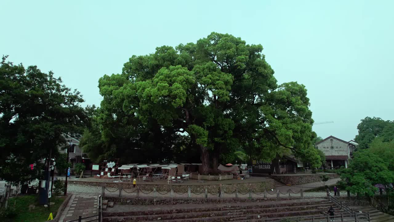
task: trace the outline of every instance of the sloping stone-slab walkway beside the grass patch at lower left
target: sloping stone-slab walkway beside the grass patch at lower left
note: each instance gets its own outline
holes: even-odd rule
[[[82,218],[97,215],[97,196],[72,194],[69,203],[60,216],[59,222],[67,222],[69,220],[78,220]],[[84,221],[93,220],[97,217],[87,218]]]

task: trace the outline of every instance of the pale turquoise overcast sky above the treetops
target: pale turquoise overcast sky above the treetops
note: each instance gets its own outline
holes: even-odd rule
[[[261,44],[278,83],[305,85],[323,138],[354,139],[365,117],[394,120],[394,1],[2,0],[0,54],[54,71],[100,105],[98,80],[132,55],[211,32]]]

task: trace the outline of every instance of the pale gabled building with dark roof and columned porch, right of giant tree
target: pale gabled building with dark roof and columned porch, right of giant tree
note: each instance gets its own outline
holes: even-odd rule
[[[353,140],[348,142],[331,135],[316,143],[315,147],[325,154],[326,167],[334,169],[341,166],[348,168],[357,145]]]

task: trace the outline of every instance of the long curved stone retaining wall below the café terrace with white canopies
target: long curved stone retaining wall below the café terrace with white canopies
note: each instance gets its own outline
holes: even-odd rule
[[[84,186],[105,186],[118,188],[122,187],[123,189],[134,189],[133,184],[131,183],[114,183],[114,182],[87,182],[87,181],[70,181],[69,184],[78,184]],[[188,188],[191,188],[191,192],[201,193],[205,192],[205,188],[208,189],[208,192],[217,192],[219,190],[219,184],[217,185],[167,185],[167,184],[138,184],[141,190],[152,191],[153,188],[156,188],[157,191],[164,192],[171,190],[171,186],[174,189],[174,192],[188,192]],[[270,190],[273,187],[272,181],[264,181],[264,182],[256,182],[256,183],[238,183],[238,184],[222,184],[222,189],[226,192],[233,192],[238,188],[239,192],[247,192],[249,190],[253,190],[254,192],[263,192],[264,190]]]

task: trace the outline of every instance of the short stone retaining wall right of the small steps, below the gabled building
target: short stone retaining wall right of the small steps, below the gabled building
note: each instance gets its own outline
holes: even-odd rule
[[[280,181],[284,184],[299,185],[299,184],[304,184],[304,183],[309,183],[309,182],[322,181],[322,179],[320,178],[320,175],[323,175],[323,174],[322,173],[312,173],[312,174],[294,175],[294,176],[271,175],[271,177],[272,177],[272,179]],[[329,176],[330,179],[339,177],[339,175],[336,173],[325,173],[325,175]]]

